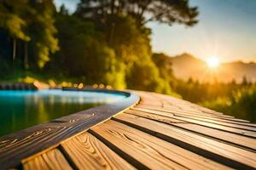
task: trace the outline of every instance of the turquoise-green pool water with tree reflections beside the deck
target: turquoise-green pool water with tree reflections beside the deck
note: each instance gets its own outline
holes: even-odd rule
[[[124,98],[86,91],[0,90],[0,136]]]

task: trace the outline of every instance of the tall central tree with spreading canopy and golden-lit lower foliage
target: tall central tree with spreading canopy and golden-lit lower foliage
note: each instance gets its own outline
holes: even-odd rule
[[[155,59],[155,63],[151,59],[151,31],[145,24],[157,21],[193,26],[197,14],[197,8],[190,8],[187,0],[81,0],[75,13],[81,20],[94,22],[96,30],[102,31],[116,58],[126,65],[128,88],[168,94],[172,91],[172,68],[163,64],[166,58]]]

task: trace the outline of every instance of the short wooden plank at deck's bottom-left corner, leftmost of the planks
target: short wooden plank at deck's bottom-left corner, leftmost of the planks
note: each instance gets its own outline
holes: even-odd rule
[[[54,149],[43,153],[41,156],[22,161],[22,166],[25,170],[34,169],[73,169],[61,154],[60,150]]]

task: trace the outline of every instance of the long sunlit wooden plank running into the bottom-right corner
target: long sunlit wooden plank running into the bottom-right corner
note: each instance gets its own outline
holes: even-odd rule
[[[194,151],[201,156],[221,162],[224,165],[240,169],[256,167],[255,152],[242,150],[230,144],[224,144],[217,140],[208,139],[201,135],[189,133],[180,128],[139,116],[120,114],[113,119],[177,144],[186,150]]]

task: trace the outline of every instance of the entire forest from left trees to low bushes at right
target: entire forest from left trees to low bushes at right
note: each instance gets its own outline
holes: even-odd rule
[[[256,85],[184,81],[151,47],[148,22],[195,26],[187,0],[0,0],[0,81],[82,82],[170,94],[256,122]],[[175,40],[173,40],[175,41]]]

